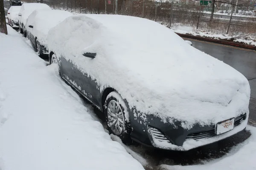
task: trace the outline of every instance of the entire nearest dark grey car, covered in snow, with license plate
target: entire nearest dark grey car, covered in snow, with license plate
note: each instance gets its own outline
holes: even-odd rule
[[[109,132],[124,143],[190,150],[247,125],[244,75],[159,23],[74,15],[47,39],[61,78],[105,113]]]

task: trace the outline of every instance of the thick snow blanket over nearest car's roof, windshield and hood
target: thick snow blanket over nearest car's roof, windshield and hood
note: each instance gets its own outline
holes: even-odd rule
[[[250,86],[241,73],[154,21],[76,15],[49,31],[48,45],[96,79],[101,90],[116,89],[143,118],[174,118],[190,129],[249,112]],[[84,52],[96,52],[96,58]]]

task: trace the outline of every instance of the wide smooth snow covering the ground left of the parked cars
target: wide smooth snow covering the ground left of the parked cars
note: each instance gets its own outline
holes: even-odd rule
[[[56,65],[46,66],[10,26],[0,40],[1,170],[143,169],[105,133]]]

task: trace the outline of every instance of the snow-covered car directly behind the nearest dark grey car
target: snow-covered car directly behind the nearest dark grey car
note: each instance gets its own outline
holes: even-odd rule
[[[70,12],[61,10],[35,10],[26,21],[26,32],[32,45],[38,52],[39,56],[47,55],[47,34],[49,29],[70,17]]]

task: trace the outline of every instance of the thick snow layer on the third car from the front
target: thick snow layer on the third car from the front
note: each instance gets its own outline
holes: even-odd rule
[[[19,20],[24,24],[24,26],[26,26],[26,20],[29,15],[36,9],[50,10],[51,8],[44,3],[23,3],[19,12],[21,14]]]

